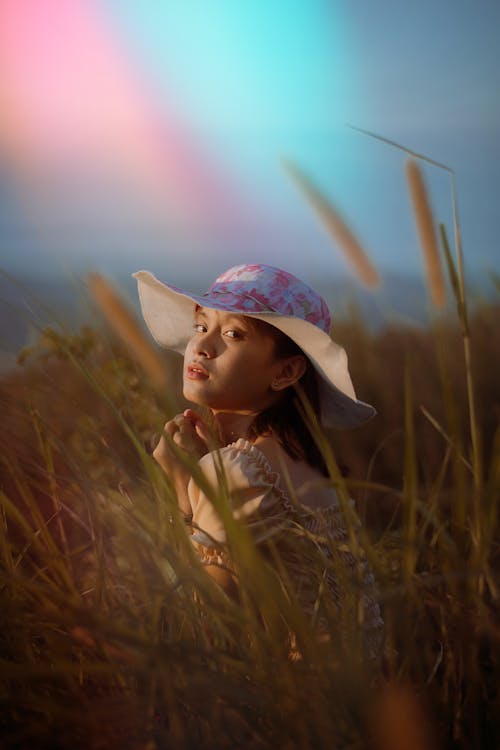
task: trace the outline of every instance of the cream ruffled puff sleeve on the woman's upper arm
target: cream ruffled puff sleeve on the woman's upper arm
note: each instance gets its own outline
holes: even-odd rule
[[[239,439],[219,451],[207,453],[199,468],[208,485],[203,491],[194,479],[188,485],[193,513],[193,541],[207,546],[224,544],[226,530],[216,504],[229,503],[233,518],[244,522],[259,542],[269,534],[268,522],[260,511],[277,505],[280,499],[279,476],[272,471],[266,457],[249,441]]]

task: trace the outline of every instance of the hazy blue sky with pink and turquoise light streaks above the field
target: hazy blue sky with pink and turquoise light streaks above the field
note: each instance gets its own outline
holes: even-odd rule
[[[283,156],[356,230],[384,279],[378,307],[416,314],[404,154],[350,125],[455,170],[469,279],[487,293],[499,29],[495,0],[2,0],[0,349],[29,338],[30,294],[68,308],[90,269],[132,298],[138,268],[201,290],[267,262],[335,311],[331,285],[356,283]],[[449,177],[426,178],[451,235]]]

